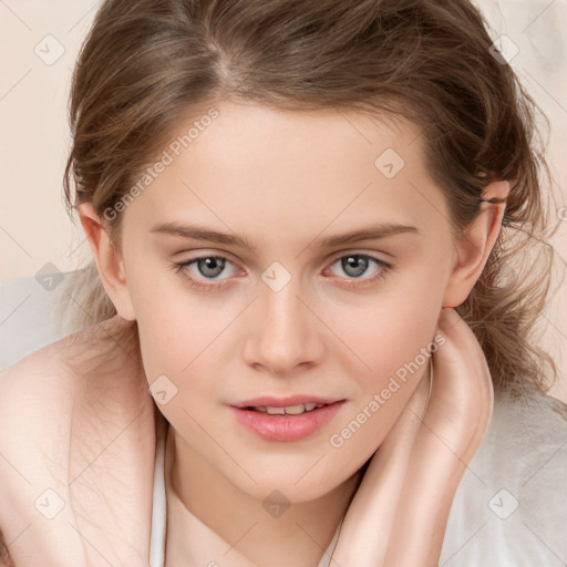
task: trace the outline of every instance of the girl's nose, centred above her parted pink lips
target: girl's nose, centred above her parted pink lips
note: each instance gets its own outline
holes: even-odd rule
[[[293,281],[279,291],[268,286],[260,289],[249,313],[252,331],[244,348],[248,364],[282,378],[317,364],[324,352],[324,326]]]

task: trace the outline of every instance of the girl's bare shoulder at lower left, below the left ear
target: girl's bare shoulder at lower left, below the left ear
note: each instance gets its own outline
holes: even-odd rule
[[[44,565],[84,564],[79,534],[117,564],[144,549],[155,405],[126,323],[90,327],[0,373],[0,530],[17,565],[17,537]]]

